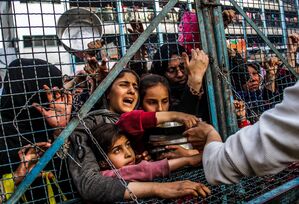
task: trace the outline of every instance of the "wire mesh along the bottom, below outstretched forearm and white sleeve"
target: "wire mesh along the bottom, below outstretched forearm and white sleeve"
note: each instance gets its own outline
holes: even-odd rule
[[[175,172],[171,175],[171,178],[163,178],[157,179],[159,182],[166,181],[178,181],[183,179],[189,179],[195,182],[201,182],[206,184],[212,190],[212,193],[207,198],[193,198],[193,197],[185,197],[176,200],[166,200],[166,199],[144,199],[139,200],[140,203],[250,203],[250,201],[255,198],[267,193],[288,181],[292,181],[293,179],[298,177],[298,167],[290,166],[288,169],[280,172],[274,176],[266,176],[266,177],[247,177],[241,180],[239,184],[235,185],[218,185],[211,186],[207,183],[204,177],[203,169],[194,169],[194,168],[186,168],[180,171]],[[285,201],[285,203],[292,203],[296,201],[296,196],[292,197],[291,195],[281,196],[281,194],[285,193],[281,191],[279,194],[270,197],[268,200],[269,203],[274,202],[275,199],[278,201],[281,199]],[[273,194],[274,195],[274,194]],[[283,198],[279,198],[279,197]],[[264,203],[264,201],[256,202],[256,203]],[[278,201],[279,202],[279,201]]]

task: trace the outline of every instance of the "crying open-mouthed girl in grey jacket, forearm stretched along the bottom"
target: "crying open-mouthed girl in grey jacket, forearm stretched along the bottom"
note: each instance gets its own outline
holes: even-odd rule
[[[95,126],[115,123],[119,114],[132,111],[138,102],[139,78],[131,70],[124,69],[107,90],[108,108],[89,113],[70,136],[70,172],[79,193],[84,200],[95,203],[112,203],[130,199],[130,189],[137,198],[176,198],[185,195],[198,196],[200,185],[190,181],[173,183],[131,182],[128,188],[119,179],[104,177],[90,148]]]

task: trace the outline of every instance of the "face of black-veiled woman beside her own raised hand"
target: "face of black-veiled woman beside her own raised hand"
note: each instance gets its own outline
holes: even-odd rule
[[[168,62],[168,68],[165,72],[165,77],[173,84],[185,84],[187,76],[182,57],[172,55]]]

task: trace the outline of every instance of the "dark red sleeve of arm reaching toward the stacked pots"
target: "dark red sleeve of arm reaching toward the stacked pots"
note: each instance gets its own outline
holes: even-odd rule
[[[123,113],[116,125],[118,125],[122,131],[130,135],[142,136],[145,129],[156,127],[156,113],[133,110],[128,113]]]

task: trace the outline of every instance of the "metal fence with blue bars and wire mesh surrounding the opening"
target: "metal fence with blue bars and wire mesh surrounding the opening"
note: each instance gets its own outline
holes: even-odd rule
[[[66,146],[65,139],[79,124],[79,118],[84,117],[94,106],[122,67],[129,66],[140,75],[148,72],[153,55],[162,44],[180,44],[187,50],[199,47],[209,54],[210,67],[205,77],[205,91],[208,94],[210,122],[224,138],[237,130],[238,121],[240,123],[246,118],[250,123],[256,122],[263,111],[282,100],[284,88],[294,84],[298,77],[298,0],[23,0],[1,2],[0,9],[0,76],[3,90],[0,169],[1,175],[7,174],[2,181],[18,179],[12,173],[20,166],[24,171],[22,176],[28,175],[24,180],[21,179],[23,182],[18,183],[16,191],[12,189],[4,195],[6,198],[8,194],[12,195],[8,201],[11,203],[17,202],[24,192],[26,198],[22,197],[20,202],[48,203],[51,196],[56,202],[64,202],[64,196],[69,202],[78,201],[79,195],[72,186],[65,159],[69,155],[63,152],[61,146]],[[66,14],[67,10],[73,13]],[[224,10],[235,12],[235,17],[227,27],[222,24],[222,18],[224,22],[230,20],[227,19],[229,15],[222,16]],[[195,13],[191,12],[188,16],[188,11]],[[78,16],[86,21],[71,24]],[[189,22],[183,21],[184,18],[188,20],[188,17]],[[90,25],[93,25],[91,29]],[[72,26],[77,28],[77,32],[68,32]],[[91,49],[87,45],[98,39],[103,40],[100,49]],[[62,87],[74,79],[86,65],[80,52],[82,49],[89,49],[90,55],[98,61],[107,58],[110,74],[90,96],[91,100],[73,99],[74,102],[86,103],[74,104],[75,111],[71,113],[73,120],[60,137],[54,138],[53,134],[60,130],[55,124],[49,125],[51,118],[71,116],[61,115],[69,108],[64,101],[58,103],[61,113],[51,112],[57,108],[52,100],[56,99],[55,96],[63,95],[65,89],[49,91],[43,85]],[[85,83],[84,80],[80,82],[82,85]],[[82,87],[83,91],[87,89],[86,86]],[[76,92],[75,89],[68,91]],[[245,109],[241,108],[239,114],[235,112],[233,100],[244,103]],[[46,107],[43,116],[38,113],[40,106],[34,103]],[[33,162],[36,167],[29,173],[33,164],[24,163],[28,159],[25,156],[29,151],[33,155],[44,151],[43,146],[34,144],[47,140],[54,141],[52,147],[39,162]],[[34,148],[28,147],[26,152],[20,152],[26,145]],[[55,177],[51,178],[56,178],[57,182],[47,180],[45,174],[42,178],[38,177],[44,168],[45,172],[54,174]],[[179,171],[170,180],[179,179],[205,182],[201,170]],[[295,189],[290,191],[293,196],[285,190],[290,181],[293,182],[290,189]],[[55,183],[59,184],[61,190]],[[49,186],[54,189],[53,194],[49,194]],[[265,190],[261,190],[261,186]],[[250,202],[259,199],[267,191],[271,192],[272,197],[267,197],[271,200],[279,197],[280,193],[271,191],[279,186],[285,193],[281,197],[284,196],[289,202],[298,199],[298,167],[289,168],[273,177],[248,178],[239,185],[211,187],[213,194],[206,201]],[[267,199],[254,202],[266,202]],[[144,202],[193,201],[186,198]]]

